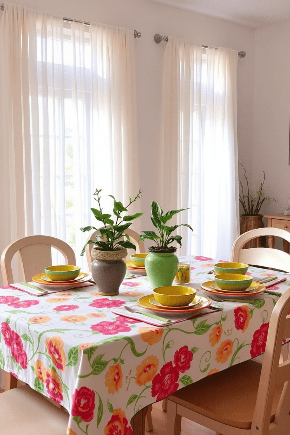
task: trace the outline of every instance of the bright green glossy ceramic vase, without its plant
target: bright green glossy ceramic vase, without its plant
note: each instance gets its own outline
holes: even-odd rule
[[[173,252],[150,252],[145,258],[145,270],[152,288],[172,285],[178,269],[178,258]]]

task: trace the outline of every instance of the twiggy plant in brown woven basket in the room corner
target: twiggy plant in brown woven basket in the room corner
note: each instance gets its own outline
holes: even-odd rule
[[[243,164],[241,164],[243,167]],[[262,183],[260,184],[257,191],[250,194],[249,183],[246,175],[246,170],[243,167],[243,176],[246,179],[247,189],[246,194],[244,194],[243,183],[239,180],[239,184],[241,187],[241,193],[239,194],[239,200],[242,204],[244,213],[241,215],[242,220],[240,223],[240,234],[245,233],[246,231],[253,230],[255,228],[263,228],[264,224],[262,221],[263,215],[260,214],[260,208],[264,201],[275,201],[277,200],[270,198],[265,195],[265,190],[263,189],[263,185],[265,182],[265,172],[263,171],[264,178]],[[266,246],[265,237],[258,237],[253,240],[250,240],[244,245],[244,249],[247,248],[260,248]]]

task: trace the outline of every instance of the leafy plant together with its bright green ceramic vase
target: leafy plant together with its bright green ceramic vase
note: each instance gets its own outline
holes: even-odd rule
[[[177,250],[174,246],[169,246],[170,243],[176,241],[181,246],[181,236],[172,235],[180,226],[185,226],[191,229],[188,224],[167,225],[167,222],[180,211],[187,210],[181,208],[180,210],[170,210],[163,214],[163,210],[157,202],[151,203],[151,221],[158,234],[155,231],[142,231],[139,240],[153,240],[156,246],[148,248],[149,254],[145,258],[145,270],[150,279],[151,287],[157,288],[164,285],[172,285],[173,279],[178,269],[178,258],[174,254]]]

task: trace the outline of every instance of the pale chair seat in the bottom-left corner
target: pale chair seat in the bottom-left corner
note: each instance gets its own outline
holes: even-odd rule
[[[3,435],[65,435],[69,415],[28,385],[0,394]]]

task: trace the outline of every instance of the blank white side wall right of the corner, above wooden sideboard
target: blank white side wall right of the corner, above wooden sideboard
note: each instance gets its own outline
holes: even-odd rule
[[[253,188],[266,174],[262,214],[283,213],[290,197],[290,21],[255,32]],[[265,220],[266,224],[266,220]]]

